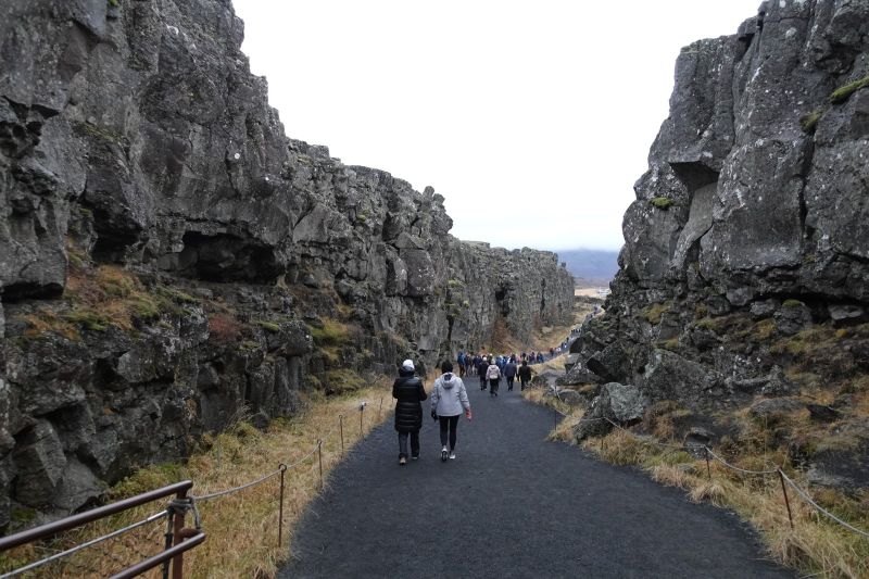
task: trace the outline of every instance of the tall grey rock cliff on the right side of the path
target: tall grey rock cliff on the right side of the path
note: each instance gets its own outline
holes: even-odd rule
[[[865,1],[781,0],[682,49],[607,314],[568,382],[695,410],[814,397],[866,473],[868,33]]]

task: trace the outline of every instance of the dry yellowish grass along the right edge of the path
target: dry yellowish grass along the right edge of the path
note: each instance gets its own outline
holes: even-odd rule
[[[538,389],[526,391],[525,397],[531,402],[552,403],[552,399],[543,397]],[[574,426],[582,414],[581,408],[570,412],[550,438],[575,444]],[[765,469],[784,462],[782,454],[766,453],[761,444],[757,446],[757,454],[729,460],[750,469]],[[707,478],[705,461],[685,452],[662,449],[651,439],[646,441],[624,430],[604,438],[588,439],[582,448],[614,464],[639,466],[656,482],[684,489],[694,502],[709,502],[733,509],[760,532],[770,555],[784,565],[818,577],[869,577],[869,540],[832,524],[789,490],[794,514],[794,528],[791,529],[778,477],[740,475],[713,461],[709,465],[711,477]],[[788,476],[802,488],[809,488],[801,473],[791,470]],[[852,525],[869,529],[869,493],[845,496],[830,489],[810,489],[809,493]]]

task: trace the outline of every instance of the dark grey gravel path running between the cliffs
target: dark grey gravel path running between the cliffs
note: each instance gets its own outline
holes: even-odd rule
[[[400,467],[390,419],[333,470],[279,577],[793,577],[735,515],[546,442],[553,414],[518,386],[466,385],[456,460],[425,402],[423,455]]]

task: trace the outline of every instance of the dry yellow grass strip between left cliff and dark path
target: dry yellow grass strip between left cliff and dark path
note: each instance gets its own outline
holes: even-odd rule
[[[360,432],[358,406],[363,401],[367,401],[368,405]],[[341,461],[338,415],[345,417],[344,442],[347,452],[350,452],[361,435],[367,435],[391,412],[391,392],[387,380],[347,397],[315,395],[298,417],[275,420],[265,432],[242,421],[224,433],[206,436],[203,446],[207,448],[191,456],[186,465],[147,467],[118,483],[110,491],[110,495],[112,500],[118,500],[185,478],[194,481],[193,495],[203,495],[255,480],[275,471],[281,463],[292,465],[307,456],[287,471],[282,546],[277,544],[279,477],[274,477],[236,494],[201,503],[199,511],[207,539],[185,555],[186,577],[274,577],[278,564],[289,556],[288,544],[291,545],[293,526],[320,490],[317,454],[310,454],[316,449],[317,440],[324,439],[323,470],[328,484],[329,473]],[[165,503],[158,501],[123,516],[92,524],[52,546],[77,544],[143,519],[164,506]],[[111,575],[124,565],[159,552],[164,525],[165,521],[161,520],[125,536],[123,540],[109,541],[86,550],[86,556],[75,557],[63,566],[49,567],[43,571],[48,575],[40,576],[73,578]],[[188,517],[187,525],[192,527],[192,517]],[[39,556],[43,556],[43,551],[37,552],[33,546],[20,549],[0,558],[0,570],[8,570]],[[158,576],[156,571],[147,575]]]

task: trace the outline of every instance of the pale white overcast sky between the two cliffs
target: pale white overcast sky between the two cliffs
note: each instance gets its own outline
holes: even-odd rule
[[[446,198],[453,235],[618,249],[679,49],[759,0],[234,0],[287,134]]]

